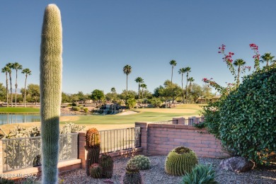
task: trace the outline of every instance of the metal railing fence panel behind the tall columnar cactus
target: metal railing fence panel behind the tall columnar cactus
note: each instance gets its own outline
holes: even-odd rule
[[[59,135],[59,161],[78,158],[78,133]],[[2,139],[3,172],[41,165],[41,137]]]

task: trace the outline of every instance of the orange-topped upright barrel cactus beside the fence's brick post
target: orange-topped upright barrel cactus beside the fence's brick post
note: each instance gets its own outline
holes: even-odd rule
[[[89,176],[89,168],[93,163],[98,163],[100,156],[100,134],[96,128],[91,128],[86,132],[86,146],[88,151],[86,159],[86,174]]]

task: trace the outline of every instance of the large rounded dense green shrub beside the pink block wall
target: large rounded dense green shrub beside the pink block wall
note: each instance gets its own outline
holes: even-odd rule
[[[222,144],[263,164],[276,152],[276,65],[246,76],[219,111]]]

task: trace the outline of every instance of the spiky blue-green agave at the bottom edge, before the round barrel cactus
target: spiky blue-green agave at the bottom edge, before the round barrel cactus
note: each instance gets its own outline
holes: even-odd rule
[[[217,183],[212,165],[199,164],[192,169],[191,173],[183,176],[182,184],[212,184]]]

